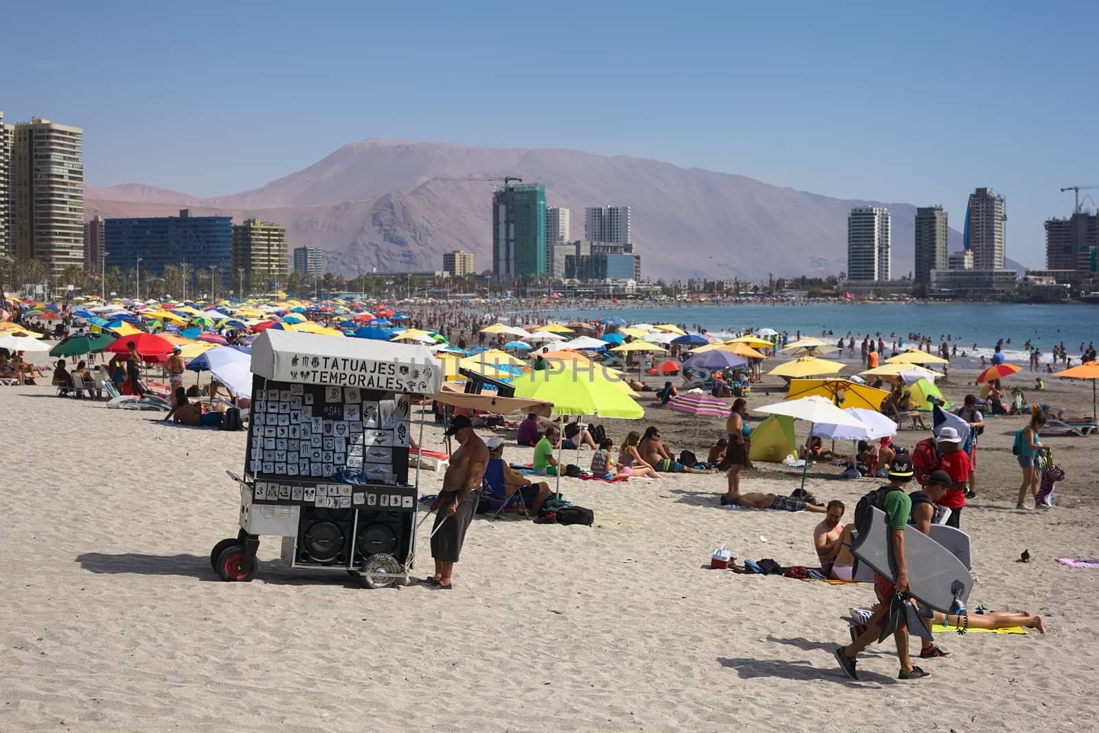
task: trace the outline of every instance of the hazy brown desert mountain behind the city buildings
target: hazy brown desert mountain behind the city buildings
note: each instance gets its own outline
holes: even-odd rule
[[[630,206],[644,275],[762,278],[837,275],[846,269],[847,213],[885,206],[892,215],[892,273],[912,269],[915,208],[834,199],[701,168],[567,149],[467,147],[366,140],[262,188],[197,199],[148,186],[88,186],[85,211],[103,216],[222,213],[284,224],[291,246],[330,251],[330,269],[440,269],[466,249],[479,269],[491,255],[492,182],[439,177],[518,176],[546,187],[551,206],[573,212],[584,236],[586,206]],[[959,223],[959,214],[955,214]],[[951,232],[952,248],[961,235]]]

